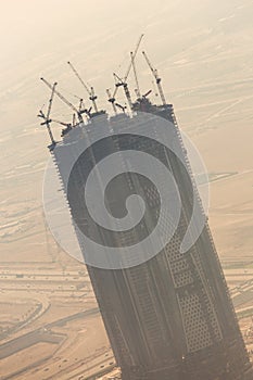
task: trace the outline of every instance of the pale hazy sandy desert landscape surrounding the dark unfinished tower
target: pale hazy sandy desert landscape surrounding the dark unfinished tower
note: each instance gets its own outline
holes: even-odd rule
[[[249,329],[253,300],[249,282],[253,279],[252,15],[250,0],[0,2],[1,379],[68,379],[85,369],[90,373],[90,367],[113,362],[85,267],[54,243],[45,225],[41,194],[49,138],[36,115],[50,92],[39,78],[56,80],[69,101],[78,104],[76,94],[89,105],[66,65],[69,60],[96,88],[99,106],[111,112],[105,89],[114,87],[113,72],[124,75],[129,52],[142,33],[140,50],[159,68],[179,125],[207,166],[211,227],[241,327]],[[152,89],[151,99],[159,101],[141,54],[137,67],[142,93]],[[129,84],[132,89],[132,75]],[[55,99],[52,115],[69,122],[72,110]],[[59,125],[53,132],[60,136]],[[237,287],[243,292],[245,283],[243,299]],[[84,309],[93,314],[79,315]],[[79,317],[75,319],[74,314]],[[66,318],[62,325],[61,318]],[[18,341],[7,355],[1,346],[28,332],[36,335],[37,329],[52,322],[51,341],[45,332],[43,342],[35,340],[37,350]]]

